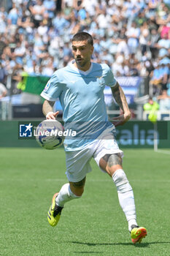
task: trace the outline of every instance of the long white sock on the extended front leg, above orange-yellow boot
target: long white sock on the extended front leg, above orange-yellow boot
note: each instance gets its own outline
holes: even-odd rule
[[[120,206],[123,209],[125,217],[128,221],[128,230],[131,231],[131,225],[137,225],[134,192],[122,169],[115,171],[112,176],[112,180],[117,188]]]

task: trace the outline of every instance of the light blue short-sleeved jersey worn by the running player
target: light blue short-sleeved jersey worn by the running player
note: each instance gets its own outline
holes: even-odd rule
[[[50,101],[59,97],[65,130],[77,132],[74,138],[65,138],[66,151],[84,148],[107,127],[115,131],[108,121],[104,87],[113,87],[116,83],[107,64],[92,62],[90,69],[83,72],[70,62],[68,66],[54,72],[41,96]]]

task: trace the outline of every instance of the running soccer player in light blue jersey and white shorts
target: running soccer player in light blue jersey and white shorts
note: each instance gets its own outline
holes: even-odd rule
[[[53,112],[53,105],[59,97],[65,129],[69,127],[77,132],[74,139],[64,140],[69,183],[53,196],[48,222],[53,227],[57,225],[64,204],[82,196],[93,157],[115,183],[132,242],[141,242],[147,230],[137,225],[134,193],[123,170],[123,151],[115,140],[115,125],[122,125],[131,117],[125,94],[107,64],[91,62],[93,38],[90,34],[82,31],[74,35],[72,53],[74,60],[54,72],[41,94],[45,98],[42,110],[46,118],[58,116],[58,111]],[[123,110],[123,114],[115,118],[115,125],[108,121],[104,102],[106,85],[110,86],[115,101]]]

